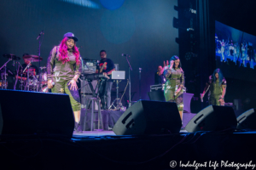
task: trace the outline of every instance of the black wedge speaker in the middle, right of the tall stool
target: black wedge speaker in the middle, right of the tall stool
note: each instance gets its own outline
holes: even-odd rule
[[[113,127],[117,135],[179,133],[182,126],[176,103],[139,100]]]

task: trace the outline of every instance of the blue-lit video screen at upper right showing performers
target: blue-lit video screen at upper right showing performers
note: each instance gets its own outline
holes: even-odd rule
[[[256,37],[215,21],[216,65],[225,77],[256,82]]]

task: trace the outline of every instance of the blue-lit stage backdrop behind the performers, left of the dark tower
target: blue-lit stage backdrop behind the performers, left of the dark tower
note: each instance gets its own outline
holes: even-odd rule
[[[137,92],[133,100],[139,99],[140,67],[143,69],[142,99],[148,99],[157,66],[178,55],[175,42],[178,31],[172,26],[172,18],[177,17],[174,10],[177,0],[126,0],[114,10],[104,8],[99,0],[73,2],[95,3],[98,8],[61,0],[1,0],[0,55],[38,55],[36,39],[44,30],[41,46],[44,59],[41,65],[44,66],[51,48],[59,44],[64,33],[72,31],[79,38],[77,46],[83,58],[100,59],[99,52],[105,49],[108,58],[119,64],[119,70],[126,71],[127,77],[128,66],[121,54],[130,54],[131,92]],[[6,61],[0,56],[0,65]],[[11,63],[8,67],[13,69]],[[124,89],[125,83],[120,86]]]

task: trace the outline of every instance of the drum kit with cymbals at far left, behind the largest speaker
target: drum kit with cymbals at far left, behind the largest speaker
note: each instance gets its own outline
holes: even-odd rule
[[[0,68],[0,88],[7,89],[9,86],[8,77],[13,77],[15,84],[14,87],[9,87],[9,89],[16,89],[17,82],[19,81],[20,86],[17,88],[20,90],[48,93],[46,67],[40,67],[41,71],[39,71],[40,73],[38,75],[35,69],[30,69],[31,64],[42,61],[42,57],[38,57],[37,55],[23,56],[23,59],[29,62],[26,68],[22,68],[22,65],[18,62],[20,57],[17,57],[15,54],[3,54],[3,57],[9,60]],[[11,60],[14,62],[13,66],[15,67],[15,71],[13,72],[7,68],[7,64]]]

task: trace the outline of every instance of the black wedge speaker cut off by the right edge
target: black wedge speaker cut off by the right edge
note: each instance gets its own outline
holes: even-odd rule
[[[237,128],[239,129],[256,129],[256,109],[251,109],[237,117]]]

